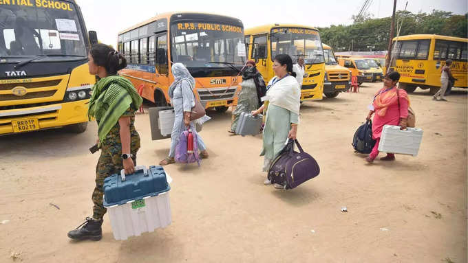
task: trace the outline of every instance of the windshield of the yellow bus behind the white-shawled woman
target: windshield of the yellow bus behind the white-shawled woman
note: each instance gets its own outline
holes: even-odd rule
[[[304,56],[306,64],[324,62],[320,35],[317,30],[305,28],[274,28],[271,30],[271,58],[277,54],[288,54],[292,62]]]

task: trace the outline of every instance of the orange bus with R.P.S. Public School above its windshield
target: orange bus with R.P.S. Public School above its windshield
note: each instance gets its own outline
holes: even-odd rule
[[[156,106],[170,102],[171,64],[181,62],[195,78],[193,89],[205,108],[224,112],[237,104],[240,69],[246,62],[244,25],[217,14],[160,14],[118,34],[118,50],[127,58],[120,71],[142,97]]]

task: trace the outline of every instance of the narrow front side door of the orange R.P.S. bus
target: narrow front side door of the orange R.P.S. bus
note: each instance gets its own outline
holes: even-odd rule
[[[152,43],[151,43],[152,44]],[[154,102],[158,106],[166,106],[169,98],[164,97],[164,92],[169,89],[169,62],[167,56],[167,32],[154,36],[154,65],[156,68]],[[151,52],[150,52],[151,53]]]

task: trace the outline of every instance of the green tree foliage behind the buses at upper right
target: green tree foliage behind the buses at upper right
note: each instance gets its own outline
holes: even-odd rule
[[[330,45],[335,51],[369,51],[387,50],[390,36],[391,17],[372,19],[372,14],[366,14],[360,19],[354,19],[352,25],[331,25],[319,27],[321,40]],[[401,24],[403,21],[403,24]],[[441,10],[431,13],[412,13],[408,11],[396,12],[396,28],[401,26],[400,36],[409,34],[438,34],[443,36],[458,36],[467,38],[468,13],[465,15],[452,14]]]

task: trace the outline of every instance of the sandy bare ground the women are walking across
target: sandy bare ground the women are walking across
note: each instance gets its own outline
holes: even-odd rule
[[[299,141],[321,174],[295,190],[264,186],[261,136],[229,136],[231,111],[210,113],[211,157],[166,168],[172,224],[126,241],[107,215],[100,242],[66,236],[92,214],[96,124],[0,137],[0,262],[467,262],[467,91],[416,90],[418,157],[367,165],[350,143],[379,87],[304,103]],[[169,139],[151,141],[147,114],[136,126],[138,163],[157,164]]]

